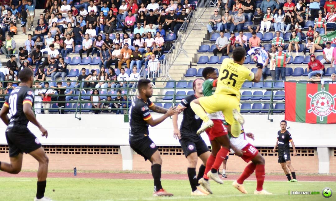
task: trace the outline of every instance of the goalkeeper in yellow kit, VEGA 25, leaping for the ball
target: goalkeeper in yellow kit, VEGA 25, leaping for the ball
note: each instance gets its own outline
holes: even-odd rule
[[[245,80],[259,82],[262,74],[263,63],[257,63],[259,55],[253,58],[257,63],[258,70],[256,74],[243,66],[246,50],[243,47],[237,47],[233,51],[233,59],[224,59],[219,70],[217,88],[212,96],[204,96],[193,100],[190,106],[203,121],[203,125],[197,131],[201,134],[207,128],[213,126],[207,113],[222,111],[228,125],[229,132],[238,137],[241,131],[241,124],[244,124],[244,118],[240,114],[240,88]]]

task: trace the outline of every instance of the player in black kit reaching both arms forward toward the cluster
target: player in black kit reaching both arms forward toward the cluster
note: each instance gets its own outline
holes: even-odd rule
[[[162,159],[155,143],[149,138],[148,126],[154,127],[166,118],[178,114],[184,108],[171,107],[168,110],[152,103],[149,98],[153,95],[153,86],[150,80],[138,81],[139,95],[134,96],[129,111],[129,144],[131,148],[152,163],[152,175],[154,178],[153,196],[173,196],[167,193],[161,186]],[[153,119],[149,109],[164,114],[158,119]]]

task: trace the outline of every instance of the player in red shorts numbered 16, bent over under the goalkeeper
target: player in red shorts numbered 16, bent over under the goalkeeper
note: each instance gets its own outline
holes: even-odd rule
[[[262,188],[265,179],[265,159],[261,156],[258,149],[246,140],[246,136],[254,140],[254,135],[252,133],[245,134],[244,128],[242,126],[240,135],[237,138],[232,137],[230,133],[228,134],[228,136],[230,138],[231,147],[238,150],[241,149],[243,151],[243,155],[241,156],[241,158],[247,163],[252,161],[245,167],[243,173],[240,175],[238,180],[232,183],[232,186],[242,193],[247,193],[243,186],[243,182],[248,177],[250,177],[250,175],[255,170],[255,176],[257,178],[257,189],[254,191],[254,194],[270,195],[271,193],[268,193]]]

